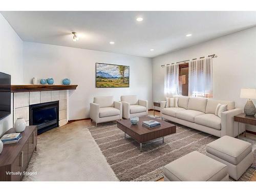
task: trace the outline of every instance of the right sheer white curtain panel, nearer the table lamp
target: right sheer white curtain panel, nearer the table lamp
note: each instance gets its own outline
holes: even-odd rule
[[[212,58],[191,60],[188,70],[188,95],[212,98]]]

